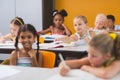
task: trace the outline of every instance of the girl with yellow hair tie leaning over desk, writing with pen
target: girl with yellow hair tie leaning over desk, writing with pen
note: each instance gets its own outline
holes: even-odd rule
[[[80,68],[97,77],[112,78],[120,73],[120,35],[98,34],[88,46],[88,57],[65,61],[59,65],[60,74],[65,76],[70,69]]]

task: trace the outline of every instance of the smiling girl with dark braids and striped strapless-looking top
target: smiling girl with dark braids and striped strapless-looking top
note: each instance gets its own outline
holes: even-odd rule
[[[37,50],[32,48],[32,44],[37,37]],[[18,47],[18,41],[23,48]],[[17,66],[42,66],[42,55],[39,52],[39,35],[31,24],[25,24],[20,27],[15,41],[16,50],[12,51],[10,65]]]

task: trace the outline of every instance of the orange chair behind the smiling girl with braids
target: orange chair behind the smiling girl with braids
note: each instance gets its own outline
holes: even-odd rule
[[[56,54],[51,51],[40,51],[40,52],[43,55],[43,67],[44,68],[53,68],[55,65]],[[6,59],[1,64],[9,65],[10,60]]]

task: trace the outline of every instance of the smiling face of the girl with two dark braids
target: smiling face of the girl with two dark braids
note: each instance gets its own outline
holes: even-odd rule
[[[31,49],[32,44],[35,41],[35,37],[31,32],[25,31],[20,33],[19,41],[22,43],[24,48]]]

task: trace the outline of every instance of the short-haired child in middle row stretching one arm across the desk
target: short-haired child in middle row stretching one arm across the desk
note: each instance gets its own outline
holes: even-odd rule
[[[76,31],[75,34],[71,35],[70,37],[63,37],[63,38],[58,38],[56,41],[63,41],[66,43],[71,43],[71,42],[76,42],[79,40],[84,40],[88,41],[90,38],[90,33],[88,31],[88,21],[85,16],[77,16],[73,20],[73,25],[74,29]],[[86,42],[85,42],[86,43]]]

